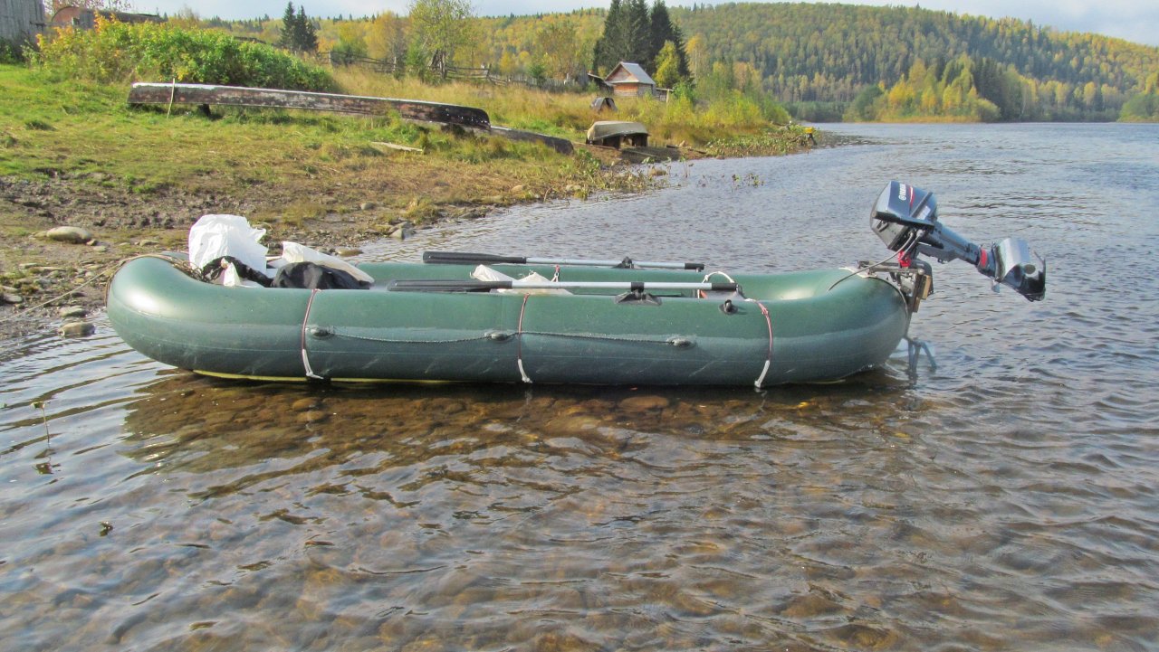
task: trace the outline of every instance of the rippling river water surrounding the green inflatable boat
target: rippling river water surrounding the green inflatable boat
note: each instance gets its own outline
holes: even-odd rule
[[[1159,650],[1159,125],[828,132],[364,258],[840,266],[888,255],[896,178],[1028,240],[1047,299],[935,265],[936,368],[760,393],[225,382],[101,317],[9,342],[0,647]]]

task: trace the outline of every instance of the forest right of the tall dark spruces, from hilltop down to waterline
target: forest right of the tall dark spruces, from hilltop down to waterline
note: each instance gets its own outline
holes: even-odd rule
[[[977,95],[997,109],[981,119],[1115,119],[1159,71],[1159,49],[1014,19],[806,3],[673,8],[671,15],[690,45],[704,36],[701,60],[748,63],[767,91],[800,108],[844,107],[872,86],[888,96],[905,80],[895,100],[911,91],[916,100],[887,102],[879,115],[862,116],[869,119],[902,117],[905,105],[920,113],[921,91],[953,87],[963,66],[963,91],[972,78]],[[943,80],[947,66],[952,76]],[[913,72],[933,74],[938,83],[913,79]],[[930,112],[931,94],[925,97]]]

